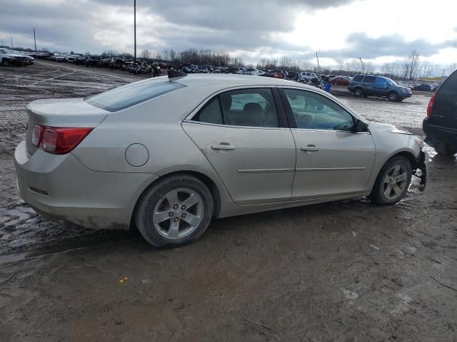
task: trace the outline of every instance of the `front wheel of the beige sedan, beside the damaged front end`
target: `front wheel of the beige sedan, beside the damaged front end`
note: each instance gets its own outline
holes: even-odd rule
[[[402,155],[386,162],[373,186],[370,199],[379,205],[395,204],[405,197],[411,183],[411,162]]]

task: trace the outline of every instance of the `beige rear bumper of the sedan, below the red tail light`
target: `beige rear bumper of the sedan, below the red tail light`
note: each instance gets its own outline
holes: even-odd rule
[[[128,229],[136,200],[158,178],[144,173],[96,172],[71,153],[36,150],[25,141],[14,153],[21,197],[44,217],[86,228]]]

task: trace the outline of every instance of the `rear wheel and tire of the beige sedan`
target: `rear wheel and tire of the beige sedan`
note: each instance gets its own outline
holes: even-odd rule
[[[186,203],[191,205],[185,207]],[[134,220],[154,247],[176,246],[201,237],[211,222],[213,207],[213,197],[203,182],[191,175],[174,175],[144,192]]]

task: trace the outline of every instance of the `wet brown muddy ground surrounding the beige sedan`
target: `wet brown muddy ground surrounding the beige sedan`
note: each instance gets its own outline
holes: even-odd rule
[[[430,147],[426,192],[413,185],[393,207],[361,199],[221,219],[175,249],[35,214],[13,163],[26,103],[135,80],[58,63],[0,68],[1,341],[457,341],[457,162]],[[424,95],[337,93],[421,134]]]

